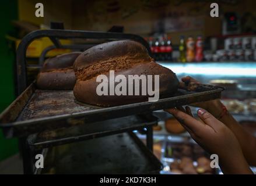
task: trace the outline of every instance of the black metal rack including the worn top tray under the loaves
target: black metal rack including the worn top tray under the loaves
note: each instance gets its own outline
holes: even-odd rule
[[[152,116],[153,110],[216,99],[223,91],[220,87],[198,84],[194,90],[179,90],[174,97],[160,99],[157,102],[133,103],[112,108],[99,108],[79,103],[73,98],[72,91],[37,90],[35,83],[27,87],[26,49],[30,42],[41,37],[50,38],[54,44],[53,47],[43,51],[41,60],[50,49],[83,48],[82,45],[61,45],[59,39],[62,38],[135,40],[141,42],[150,51],[148,43],[134,34],[38,30],[26,35],[17,49],[17,92],[19,96],[0,115],[0,127],[3,128],[5,136],[20,137],[25,174],[37,173],[34,167],[34,155],[37,153],[47,155],[47,152],[51,152],[56,145],[74,144],[78,141],[118,133],[131,134],[132,130],[143,130],[143,128],[146,128],[148,148],[141,148],[146,155],[153,158],[155,156],[150,155],[153,147],[152,126],[157,123],[157,118]],[[54,103],[49,103],[51,100]],[[39,104],[38,101],[41,103]],[[69,105],[69,110],[66,110],[66,104]],[[41,113],[44,109],[47,109],[46,114]],[[156,157],[153,162],[155,162],[155,169],[159,170],[160,163],[157,163]]]

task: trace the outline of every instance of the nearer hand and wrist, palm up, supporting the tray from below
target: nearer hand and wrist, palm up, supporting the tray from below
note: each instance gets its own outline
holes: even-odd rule
[[[198,116],[202,121],[192,117],[191,110],[187,106],[178,109],[167,109],[191,137],[209,153],[219,156],[219,166],[223,173],[251,174],[252,171],[244,159],[239,141],[232,131],[218,119],[204,109],[198,110]],[[182,110],[182,111],[181,111]]]

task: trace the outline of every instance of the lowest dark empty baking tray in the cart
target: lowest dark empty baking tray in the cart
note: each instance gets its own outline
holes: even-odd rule
[[[134,133],[48,149],[37,174],[157,174],[162,163]]]

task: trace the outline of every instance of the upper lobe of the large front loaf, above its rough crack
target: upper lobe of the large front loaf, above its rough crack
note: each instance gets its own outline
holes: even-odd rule
[[[74,63],[74,70],[77,71],[92,65],[99,66],[103,63],[120,66],[120,60],[126,60],[125,63],[137,63],[140,61],[150,62],[153,59],[139,42],[112,41],[96,45],[83,52]]]

